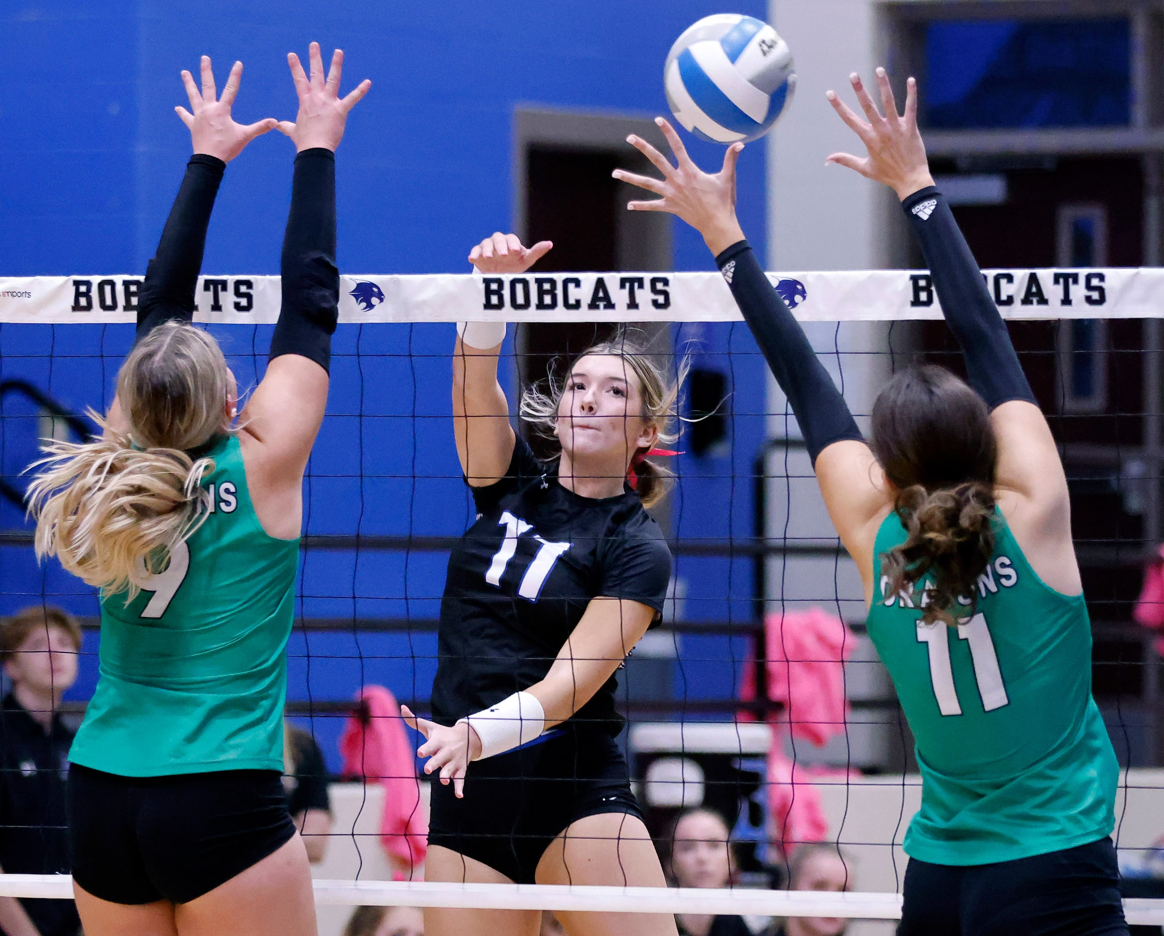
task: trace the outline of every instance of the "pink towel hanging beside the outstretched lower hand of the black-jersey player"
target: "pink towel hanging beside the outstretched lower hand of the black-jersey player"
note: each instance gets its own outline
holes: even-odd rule
[[[428,817],[420,802],[416,754],[400,707],[383,686],[365,686],[356,699],[359,711],[348,718],[340,737],[343,773],[384,787],[381,844],[390,857],[414,868],[428,850]]]

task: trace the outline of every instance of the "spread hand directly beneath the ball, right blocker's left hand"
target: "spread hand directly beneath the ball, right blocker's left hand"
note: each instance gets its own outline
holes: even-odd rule
[[[667,137],[677,165],[670,162],[641,136],[631,135],[626,142],[646,156],[662,172],[661,179],[637,176],[616,169],[613,177],[648,192],[662,196],[650,201],[630,201],[630,211],[666,211],[682,218],[703,235],[712,254],[719,254],[737,241],[744,232],[736,219],[736,163],[744,150],[743,143],[732,143],[724,154],[723,168],[714,176],[704,172],[687,155],[687,147],[675,128],[662,118],[655,123]]]

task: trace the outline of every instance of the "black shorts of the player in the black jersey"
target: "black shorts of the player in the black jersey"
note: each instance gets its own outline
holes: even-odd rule
[[[464,797],[432,783],[428,844],[533,884],[542,852],[570,823],[603,813],[643,818],[626,760],[609,732],[567,723],[504,754],[469,765]]]

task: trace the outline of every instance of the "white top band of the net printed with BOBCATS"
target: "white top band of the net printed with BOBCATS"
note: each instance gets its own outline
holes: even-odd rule
[[[939,319],[924,270],[768,274],[802,321]],[[1164,269],[987,270],[1008,319],[1154,318]],[[0,322],[132,322],[140,276],[0,277]],[[196,321],[272,324],[277,276],[204,276]],[[718,272],[342,276],[341,322],[740,321]]]

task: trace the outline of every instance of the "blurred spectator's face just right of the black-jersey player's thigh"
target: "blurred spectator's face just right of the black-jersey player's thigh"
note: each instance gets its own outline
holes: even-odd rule
[[[723,816],[712,809],[687,809],[667,836],[663,868],[679,887],[728,887],[736,859]],[[680,936],[754,936],[741,916],[676,914]]]

